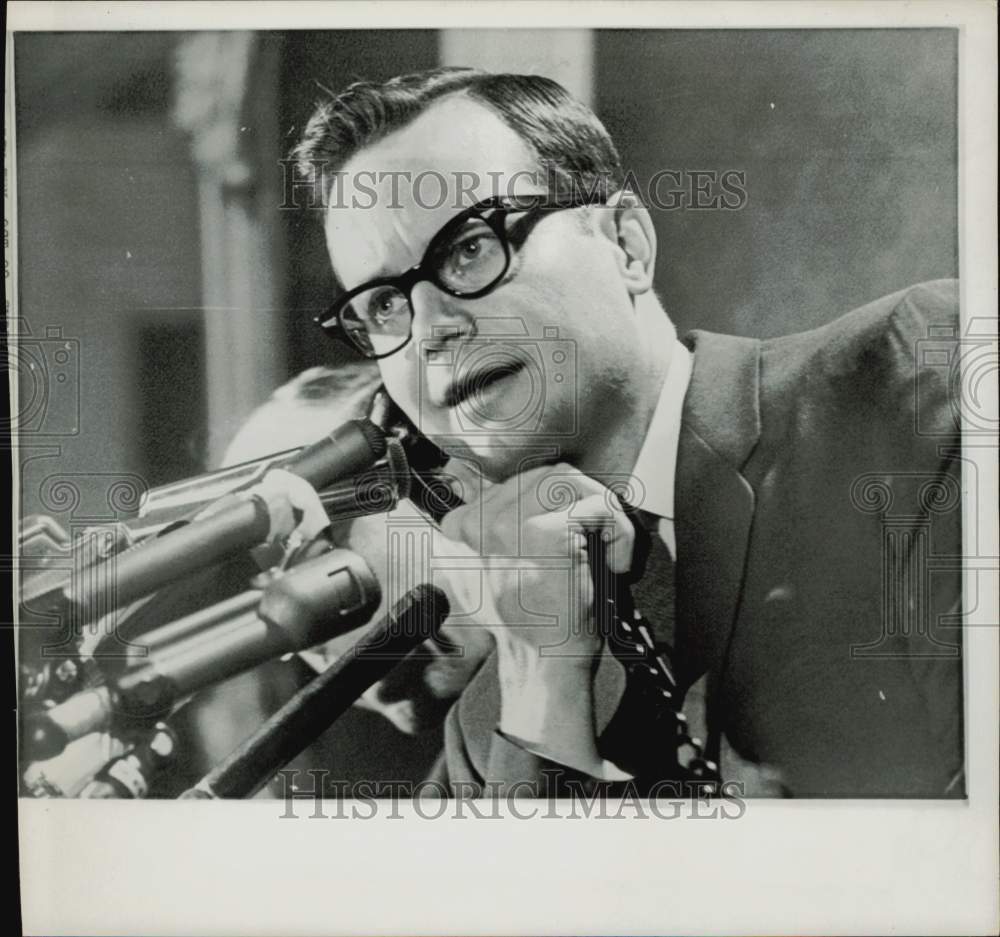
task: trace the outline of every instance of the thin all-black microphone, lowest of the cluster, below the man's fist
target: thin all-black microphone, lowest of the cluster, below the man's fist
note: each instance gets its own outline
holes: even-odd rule
[[[439,588],[411,589],[391,613],[315,677],[182,798],[251,797],[407,654],[436,636],[449,614]]]

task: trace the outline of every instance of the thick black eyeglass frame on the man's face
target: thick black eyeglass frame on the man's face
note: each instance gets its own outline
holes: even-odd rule
[[[553,196],[549,193],[543,192],[529,193],[526,195],[492,195],[489,198],[476,202],[474,205],[470,205],[453,218],[450,218],[444,225],[442,225],[441,228],[438,229],[428,242],[423,256],[420,258],[418,263],[396,276],[376,277],[373,280],[368,280],[353,289],[348,290],[346,293],[338,296],[337,299],[330,304],[326,312],[321,316],[316,316],[313,321],[321,329],[323,329],[324,334],[331,338],[343,341],[346,336],[350,347],[359,352],[369,361],[379,361],[382,358],[388,358],[391,355],[398,354],[413,340],[414,313],[412,293],[413,288],[418,283],[427,281],[437,289],[441,290],[442,293],[447,296],[453,296],[456,299],[479,299],[483,296],[487,296],[492,293],[501,284],[501,282],[503,282],[503,278],[507,275],[507,271],[510,270],[512,251],[510,236],[507,233],[506,226],[508,215],[513,214],[514,212],[534,213],[544,211],[563,211],[569,208],[583,208],[587,205],[601,205],[607,201],[607,195],[605,193],[573,193],[573,195],[571,195],[568,199],[561,196],[555,196],[553,201],[545,201],[546,199],[553,199]],[[521,207],[526,201],[535,201],[535,204]],[[485,212],[492,213],[488,217],[484,217]],[[437,249],[440,248],[443,243],[447,243],[447,239],[449,237],[458,231],[470,218],[476,217],[478,217],[484,224],[488,225],[496,234],[498,240],[500,241],[500,245],[503,247],[504,263],[500,272],[492,281],[486,284],[486,286],[475,290],[462,291],[448,286],[440,280],[438,270],[432,262],[432,258],[434,257]],[[530,231],[528,233],[530,234]],[[525,235],[525,240],[527,240],[527,235]],[[399,293],[405,297],[406,307],[409,310],[410,322],[406,340],[398,348],[394,348],[392,351],[383,352],[382,354],[374,354],[373,352],[369,352],[368,350],[362,348],[360,344],[351,337],[355,330],[346,328],[341,317],[344,310],[350,306],[351,301],[355,297],[380,286],[392,287],[398,290]]]

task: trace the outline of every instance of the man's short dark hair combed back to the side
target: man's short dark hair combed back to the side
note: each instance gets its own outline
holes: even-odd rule
[[[550,78],[478,68],[431,69],[383,84],[359,81],[331,94],[317,103],[291,152],[299,177],[321,184],[325,200],[335,178],[327,173],[451,94],[464,94],[493,110],[560,186],[598,187],[605,194],[621,188],[621,157],[593,111]]]

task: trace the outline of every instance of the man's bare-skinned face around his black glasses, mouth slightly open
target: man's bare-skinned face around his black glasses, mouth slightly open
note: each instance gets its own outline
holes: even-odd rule
[[[417,264],[441,227],[475,202],[545,193],[527,145],[463,96],[432,105],[343,172],[326,237],[348,289]],[[543,213],[523,224],[523,240],[512,215],[512,260],[499,285],[462,299],[419,283],[412,340],[379,361],[389,394],[417,427],[452,455],[472,456],[488,477],[513,474],[528,456],[572,462],[620,413],[637,332],[611,212]]]

